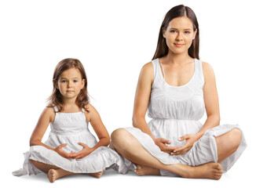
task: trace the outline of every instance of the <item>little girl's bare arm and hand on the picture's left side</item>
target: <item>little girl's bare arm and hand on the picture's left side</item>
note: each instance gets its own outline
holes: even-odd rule
[[[30,146],[45,146],[49,150],[54,150],[57,154],[65,158],[70,158],[71,154],[68,154],[62,150],[62,147],[67,146],[67,143],[63,143],[56,148],[52,148],[47,146],[46,144],[42,143],[42,137],[46,133],[46,129],[49,126],[49,122],[53,122],[55,117],[55,112],[53,107],[46,107],[45,110],[42,111],[41,116],[38,119],[38,123],[35,126],[34,131],[32,132],[31,139],[30,139]]]

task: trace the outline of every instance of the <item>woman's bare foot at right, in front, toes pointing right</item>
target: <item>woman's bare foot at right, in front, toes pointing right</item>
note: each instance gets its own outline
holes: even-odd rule
[[[188,176],[186,178],[192,179],[221,179],[223,170],[219,163],[207,163],[196,167],[189,167]]]

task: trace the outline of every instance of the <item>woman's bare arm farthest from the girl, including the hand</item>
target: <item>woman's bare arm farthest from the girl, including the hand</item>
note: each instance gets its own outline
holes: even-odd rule
[[[174,154],[185,154],[191,149],[196,140],[200,139],[203,134],[210,128],[214,128],[220,124],[220,110],[218,103],[218,92],[216,87],[216,81],[214,76],[214,70],[209,63],[203,62],[203,99],[205,108],[207,111],[207,121],[205,121],[203,127],[195,135],[181,136],[180,141],[186,140],[184,146],[174,150]]]

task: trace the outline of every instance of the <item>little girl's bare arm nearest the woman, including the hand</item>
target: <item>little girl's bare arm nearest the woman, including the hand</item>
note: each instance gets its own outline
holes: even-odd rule
[[[88,104],[86,109],[88,109],[89,111],[89,112],[85,112],[86,120],[90,121],[90,125],[92,125],[94,132],[97,134],[99,142],[93,147],[89,147],[85,143],[79,143],[79,145],[83,146],[83,149],[76,154],[71,154],[71,157],[75,159],[86,157],[87,155],[92,153],[94,150],[96,150],[98,147],[108,146],[110,142],[108,131],[101,121],[100,114],[91,104]]]

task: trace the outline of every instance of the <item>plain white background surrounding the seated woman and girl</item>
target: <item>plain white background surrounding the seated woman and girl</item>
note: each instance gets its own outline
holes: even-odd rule
[[[132,126],[133,98],[144,63],[152,60],[159,27],[174,5],[191,7],[199,21],[200,59],[214,67],[221,124],[240,124],[247,150],[221,180],[138,177],[105,172],[50,184],[45,174],[17,178],[31,132],[52,92],[53,70],[79,59],[91,103],[111,133]],[[244,186],[254,178],[255,10],[253,1],[1,1],[1,184],[71,186]],[[204,117],[205,119],[205,117]],[[203,120],[202,120],[203,121]],[[47,138],[47,133],[44,140]],[[6,184],[5,184],[6,185]]]

